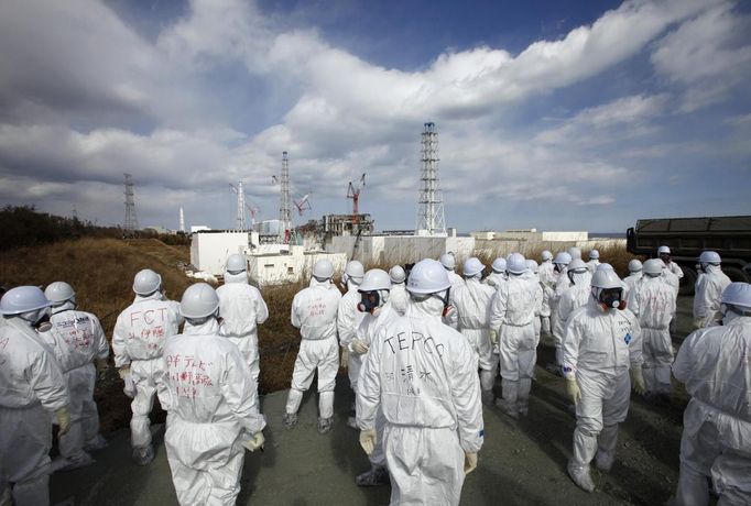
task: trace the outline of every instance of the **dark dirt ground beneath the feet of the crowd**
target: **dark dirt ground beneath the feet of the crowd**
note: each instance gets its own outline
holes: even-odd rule
[[[676,348],[690,330],[692,298],[679,299]],[[545,371],[553,349],[538,349],[536,382],[530,415],[512,420],[497,408],[485,408],[486,441],[479,466],[462,488],[467,505],[660,505],[674,494],[678,477],[678,449],[685,391],[674,385],[671,405],[652,405],[632,396],[628,420],[621,426],[616,464],[609,474],[594,470],[597,490],[585,493],[566,475],[575,418],[563,380]],[[117,376],[110,378],[117,387]],[[500,383],[497,384],[500,394]],[[315,394],[308,393],[301,421],[293,430],[282,427],[286,392],[263,396],[266,448],[248,453],[238,504],[377,505],[387,504],[390,488],[358,488],[355,476],[368,469],[357,431],[346,426],[352,394],[345,375],[337,377],[335,428],[316,432]],[[99,399],[100,403],[105,399]],[[119,404],[117,399],[106,399]],[[107,409],[100,404],[100,409]],[[160,419],[155,416],[154,419]],[[127,427],[127,419],[122,420]],[[53,475],[53,504],[176,504],[164,447],[163,427],[154,426],[156,460],[146,468],[130,461],[129,431],[107,433],[110,447],[95,457],[94,466]]]

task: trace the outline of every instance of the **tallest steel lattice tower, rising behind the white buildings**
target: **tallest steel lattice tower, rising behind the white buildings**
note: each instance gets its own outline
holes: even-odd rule
[[[435,123],[425,123],[422,134],[422,164],[417,230],[426,230],[431,235],[445,234],[444,194],[438,178],[438,132]]]

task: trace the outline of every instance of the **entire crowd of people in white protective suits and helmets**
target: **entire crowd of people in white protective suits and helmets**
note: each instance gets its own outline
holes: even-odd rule
[[[541,263],[512,253],[486,266],[476,257],[423,260],[406,273],[351,261],[334,279],[316,262],[297,293],[291,321],[302,342],[283,421],[291,429],[317,372],[318,432],[333,426],[334,386],[346,366],[370,470],[361,486],[391,483],[392,504],[458,504],[478,462],[482,404],[527,416],[541,334],[551,334],[575,405],[568,474],[585,491],[590,463],[613,465],[618,425],[630,392],[670,399],[671,371],[692,400],[681,442],[679,505],[751,503],[751,286],[730,283],[715,252],[699,257],[694,322],[673,361],[671,323],[681,267],[670,249],[620,279],[592,250],[569,249]],[[225,284],[191,286],[166,298],[159,274],[135,275],[135,299],[118,317],[115,363],[133,398],[132,458],[153,459],[149,413],[154,395],[167,411],[165,448],[181,504],[233,504],[244,451],[263,449],[258,397],[258,324],[269,311],[249,284],[242,255],[227,260]],[[0,300],[0,484],[15,504],[47,504],[53,469],[92,461],[105,443],[92,402],[96,366],[109,348],[94,315],[77,311],[62,282],[45,293],[13,288]],[[183,332],[179,327],[183,324]],[[494,383],[501,376],[501,397]],[[51,464],[52,425],[61,457]]]

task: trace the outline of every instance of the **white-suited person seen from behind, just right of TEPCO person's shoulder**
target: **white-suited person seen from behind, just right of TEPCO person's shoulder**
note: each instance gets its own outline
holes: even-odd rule
[[[477,359],[482,403],[492,406],[498,356],[493,353],[496,345],[490,336],[490,302],[496,289],[480,283],[483,270],[479,258],[468,258],[462,267],[465,286],[451,290],[451,301],[458,315],[457,330],[467,339]]]

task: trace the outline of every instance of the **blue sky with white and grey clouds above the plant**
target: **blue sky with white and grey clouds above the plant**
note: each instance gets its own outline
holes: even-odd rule
[[[141,226],[240,180],[273,219],[287,151],[312,217],[366,172],[409,229],[433,121],[460,231],[749,215],[750,80],[747,1],[3,0],[0,204],[122,223],[131,173]]]

